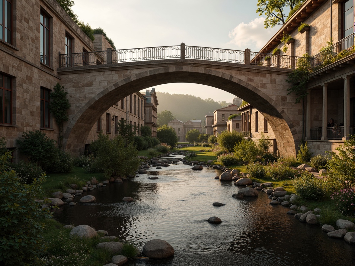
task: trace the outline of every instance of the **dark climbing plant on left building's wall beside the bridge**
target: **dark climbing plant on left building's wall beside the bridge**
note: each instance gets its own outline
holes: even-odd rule
[[[59,127],[59,149],[62,148],[64,137],[63,123],[69,120],[68,110],[70,108],[70,103],[66,97],[67,94],[68,92],[64,91],[64,86],[60,86],[59,83],[53,87],[53,92],[49,94],[51,99],[51,102],[49,103],[49,110],[53,114]]]

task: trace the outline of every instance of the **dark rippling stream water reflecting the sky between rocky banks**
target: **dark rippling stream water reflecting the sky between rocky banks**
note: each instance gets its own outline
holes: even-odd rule
[[[84,193],[94,195],[96,203],[66,205],[54,217],[64,224],[107,230],[141,249],[151,239],[164,239],[175,249],[174,257],[130,265],[355,265],[355,245],[328,238],[317,225],[300,223],[286,214],[289,208],[269,204],[265,193],[232,198],[238,187],[215,180],[219,170],[196,171],[180,163],[150,170]],[[126,196],[135,201],[123,202]],[[226,205],[215,207],[213,202]],[[211,216],[222,224],[209,224]]]

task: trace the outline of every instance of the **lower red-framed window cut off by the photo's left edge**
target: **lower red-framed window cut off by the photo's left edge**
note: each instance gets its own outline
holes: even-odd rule
[[[12,123],[11,78],[0,73],[0,123]]]

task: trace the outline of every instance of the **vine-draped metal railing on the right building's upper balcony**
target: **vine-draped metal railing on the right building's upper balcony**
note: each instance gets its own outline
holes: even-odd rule
[[[344,50],[351,50],[354,47],[354,33],[345,37],[337,43],[334,43],[332,46],[324,49],[322,52],[314,55],[310,59],[311,68],[321,67],[322,63],[326,60],[332,59],[340,52]]]

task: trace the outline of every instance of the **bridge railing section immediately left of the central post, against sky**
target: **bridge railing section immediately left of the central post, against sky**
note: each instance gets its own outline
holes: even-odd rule
[[[112,51],[112,63],[180,58],[180,46],[160,46]]]

